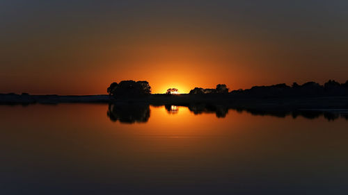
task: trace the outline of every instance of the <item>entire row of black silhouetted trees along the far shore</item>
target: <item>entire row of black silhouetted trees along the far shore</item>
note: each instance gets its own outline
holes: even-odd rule
[[[168,89],[166,94],[177,92],[175,88]],[[146,96],[151,94],[151,87],[148,81],[122,80],[120,83],[111,83],[107,88],[110,96]],[[299,85],[293,83],[291,86],[285,83],[268,86],[254,86],[247,90],[232,90],[229,92],[225,84],[216,85],[215,89],[195,87],[189,94],[224,94],[235,97],[292,97],[292,96],[347,96],[348,80],[345,83],[338,83],[329,80],[320,85],[313,81]]]

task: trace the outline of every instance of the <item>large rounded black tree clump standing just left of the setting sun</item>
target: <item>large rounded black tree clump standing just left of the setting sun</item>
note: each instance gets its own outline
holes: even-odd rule
[[[111,83],[107,88],[110,96],[145,96],[151,94],[148,81],[122,80],[120,83]]]

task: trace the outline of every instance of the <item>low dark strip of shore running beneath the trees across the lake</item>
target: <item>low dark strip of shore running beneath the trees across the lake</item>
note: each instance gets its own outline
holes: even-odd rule
[[[109,95],[60,96],[30,94],[0,94],[2,105],[29,105],[33,103],[147,103],[150,105],[190,105],[204,103],[224,105],[235,109],[303,110],[348,109],[348,96],[308,96],[281,98],[236,98],[230,95],[151,94],[142,98],[113,99]]]

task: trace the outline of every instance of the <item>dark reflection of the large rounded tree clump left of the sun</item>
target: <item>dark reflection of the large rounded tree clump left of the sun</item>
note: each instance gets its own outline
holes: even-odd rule
[[[125,124],[145,123],[150,118],[150,106],[145,103],[109,104],[107,115],[111,121]]]

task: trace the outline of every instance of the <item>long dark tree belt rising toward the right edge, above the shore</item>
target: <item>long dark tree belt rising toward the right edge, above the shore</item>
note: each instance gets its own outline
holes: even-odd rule
[[[293,83],[292,86],[288,86],[281,83],[270,86],[255,86],[248,90],[234,90],[230,94],[246,97],[345,96],[348,95],[348,80],[346,83],[329,80],[324,85],[310,81],[303,85]]]

